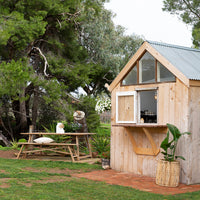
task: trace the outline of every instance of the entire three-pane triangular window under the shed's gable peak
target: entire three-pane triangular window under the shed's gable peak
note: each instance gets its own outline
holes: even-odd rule
[[[176,77],[149,52],[137,60],[134,67],[122,80],[122,85],[136,85],[176,81]]]

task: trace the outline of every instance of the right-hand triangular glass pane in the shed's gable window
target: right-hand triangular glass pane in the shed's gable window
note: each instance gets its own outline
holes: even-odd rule
[[[161,63],[157,62],[157,79],[158,82],[175,81],[175,76]]]

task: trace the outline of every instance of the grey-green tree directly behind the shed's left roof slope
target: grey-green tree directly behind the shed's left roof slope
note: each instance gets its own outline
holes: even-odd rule
[[[84,9],[84,8],[83,8]],[[91,65],[89,80],[83,89],[87,94],[97,95],[107,92],[105,83],[111,83],[121,68],[139,48],[143,39],[137,35],[125,35],[122,26],[115,26],[114,14],[106,9],[96,17],[93,8],[84,12],[81,22],[80,43],[89,54],[87,62]]]

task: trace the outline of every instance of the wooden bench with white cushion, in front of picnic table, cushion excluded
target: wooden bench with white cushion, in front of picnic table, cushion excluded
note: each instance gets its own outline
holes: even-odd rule
[[[26,157],[28,153],[44,152],[44,151],[51,151],[51,152],[60,153],[60,154],[64,154],[64,155],[70,155],[72,162],[75,161],[75,159],[74,159],[75,157],[77,158],[77,153],[74,149],[74,146],[76,146],[76,144],[19,142],[18,145],[20,145],[21,148],[20,148],[19,153],[17,154],[17,159],[19,159],[19,157],[22,153],[25,154],[25,157]],[[34,149],[33,148],[34,146],[36,146],[37,149]],[[23,149],[25,149],[25,150],[23,150]],[[67,152],[67,149],[68,149],[68,152]],[[62,151],[62,150],[64,150],[64,151]]]

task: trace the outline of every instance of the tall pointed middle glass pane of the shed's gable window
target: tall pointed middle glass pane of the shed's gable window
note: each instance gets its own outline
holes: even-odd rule
[[[146,52],[139,61],[139,83],[155,82],[155,59]]]

